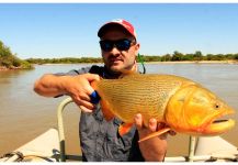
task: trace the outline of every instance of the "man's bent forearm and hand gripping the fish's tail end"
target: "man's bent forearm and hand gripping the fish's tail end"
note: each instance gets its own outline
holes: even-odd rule
[[[94,106],[90,102],[90,95],[93,92],[93,88],[90,82],[99,79],[99,75],[94,74],[78,76],[46,74],[35,81],[34,90],[44,97],[69,95],[84,112],[92,112]]]

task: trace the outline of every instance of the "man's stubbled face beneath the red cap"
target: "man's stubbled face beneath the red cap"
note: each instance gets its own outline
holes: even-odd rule
[[[105,66],[115,74],[121,74],[125,69],[135,70],[135,58],[138,54],[139,44],[136,44],[133,36],[118,28],[107,30],[101,38],[102,41],[120,41],[123,38],[134,41],[127,51],[120,51],[115,45],[111,51],[102,50],[102,57]]]

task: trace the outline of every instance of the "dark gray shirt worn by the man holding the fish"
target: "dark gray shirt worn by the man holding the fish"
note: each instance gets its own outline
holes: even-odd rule
[[[80,75],[98,74],[102,78],[111,78],[105,67],[93,65],[78,70],[70,70],[67,74],[57,75]],[[138,146],[138,132],[135,127],[121,136],[118,127],[123,122],[114,118],[106,121],[103,118],[100,105],[93,113],[81,113],[79,122],[79,135],[84,162],[144,162]]]

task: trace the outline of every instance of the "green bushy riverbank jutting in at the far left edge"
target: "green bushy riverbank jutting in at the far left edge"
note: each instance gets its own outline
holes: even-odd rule
[[[13,55],[8,46],[0,41],[0,69],[29,69],[32,65],[23,59]]]

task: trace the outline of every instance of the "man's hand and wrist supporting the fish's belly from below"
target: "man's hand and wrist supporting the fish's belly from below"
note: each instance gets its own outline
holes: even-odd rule
[[[140,113],[136,114],[135,124],[139,133],[139,139],[165,128],[165,124],[158,123],[156,119],[150,119],[149,127],[145,128]],[[165,160],[167,152],[167,134],[168,133],[165,133],[139,143],[140,152],[146,161],[162,162]],[[170,134],[174,135],[175,133],[171,131]]]

